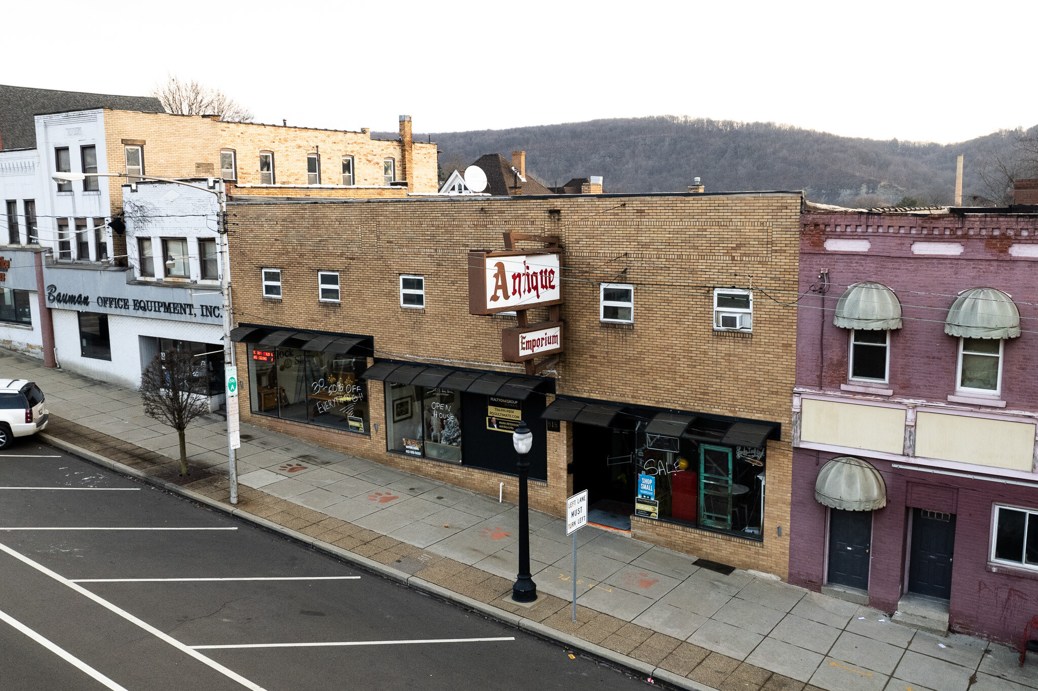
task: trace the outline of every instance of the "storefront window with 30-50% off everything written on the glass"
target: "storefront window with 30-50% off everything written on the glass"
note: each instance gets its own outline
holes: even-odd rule
[[[367,359],[292,348],[249,348],[252,412],[371,434]]]

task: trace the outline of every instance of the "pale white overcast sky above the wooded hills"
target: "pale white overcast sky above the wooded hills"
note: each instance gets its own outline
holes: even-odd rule
[[[258,121],[457,132],[766,120],[938,142],[1038,123],[1030,2],[8,2],[0,83],[144,94],[167,73]],[[17,59],[11,59],[17,56]]]

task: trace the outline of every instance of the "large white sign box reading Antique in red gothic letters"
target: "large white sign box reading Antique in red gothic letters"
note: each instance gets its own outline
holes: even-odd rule
[[[469,314],[561,304],[561,249],[469,252]]]

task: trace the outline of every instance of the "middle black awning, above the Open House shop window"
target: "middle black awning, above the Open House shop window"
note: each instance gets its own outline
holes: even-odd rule
[[[555,382],[546,377],[516,377],[499,372],[456,369],[444,365],[387,361],[376,362],[360,378],[374,382],[437,387],[519,400],[525,400],[534,392],[551,393]]]

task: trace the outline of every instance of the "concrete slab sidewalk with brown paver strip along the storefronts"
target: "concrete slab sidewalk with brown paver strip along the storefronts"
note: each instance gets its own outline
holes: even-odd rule
[[[143,415],[135,391],[6,352],[0,365],[3,376],[31,379],[44,389],[49,434],[149,475],[176,478],[176,435]],[[226,503],[223,432],[219,416],[188,431],[197,470],[185,487]],[[573,624],[572,537],[559,519],[530,514],[531,566],[543,595],[532,607],[520,607],[508,597],[517,562],[515,505],[248,424],[242,440],[241,515],[628,656],[686,688],[1038,689],[1038,661],[1020,668],[1008,647],[918,632],[868,607],[765,575],[711,571],[694,556],[594,527],[578,533],[579,620]]]

